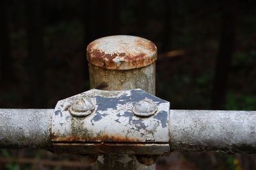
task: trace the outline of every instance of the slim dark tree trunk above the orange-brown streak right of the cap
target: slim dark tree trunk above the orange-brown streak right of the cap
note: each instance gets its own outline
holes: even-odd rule
[[[171,49],[172,40],[172,0],[164,0],[164,33],[163,33],[163,52]]]

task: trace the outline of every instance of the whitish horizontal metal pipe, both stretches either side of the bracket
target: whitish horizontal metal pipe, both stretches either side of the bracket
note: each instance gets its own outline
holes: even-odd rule
[[[0,109],[0,148],[52,150],[53,109]],[[171,151],[256,153],[256,111],[170,110]]]

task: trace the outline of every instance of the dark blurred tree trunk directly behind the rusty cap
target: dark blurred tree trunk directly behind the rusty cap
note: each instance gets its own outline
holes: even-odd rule
[[[119,1],[81,1],[84,11],[84,47],[97,38],[118,35],[120,30]],[[95,12],[97,7],[97,12]],[[103,13],[103,15],[102,15]],[[84,52],[86,55],[86,52]],[[88,61],[84,56],[84,79],[89,80]],[[86,87],[87,88],[87,87]]]

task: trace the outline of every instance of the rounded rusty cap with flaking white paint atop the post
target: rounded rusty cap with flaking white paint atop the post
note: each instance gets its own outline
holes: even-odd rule
[[[91,42],[86,54],[92,65],[113,70],[129,70],[156,61],[157,47],[145,38],[115,35]]]

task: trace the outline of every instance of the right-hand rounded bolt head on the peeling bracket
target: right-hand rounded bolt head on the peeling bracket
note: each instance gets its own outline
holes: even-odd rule
[[[132,107],[132,112],[136,116],[140,117],[148,117],[152,116],[156,113],[157,106],[150,100],[144,99],[138,102],[136,105]]]

